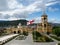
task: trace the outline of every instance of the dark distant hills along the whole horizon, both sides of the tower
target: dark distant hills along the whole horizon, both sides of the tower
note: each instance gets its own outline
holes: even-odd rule
[[[19,23],[21,25],[27,25],[27,20],[21,19],[21,20],[13,20],[13,21],[0,21],[0,27],[5,27],[5,26],[17,26]],[[37,23],[34,23],[30,26],[37,25]],[[60,26],[60,23],[51,23],[52,26]]]

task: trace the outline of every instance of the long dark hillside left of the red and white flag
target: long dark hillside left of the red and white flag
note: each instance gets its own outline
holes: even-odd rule
[[[21,19],[21,20],[13,20],[13,21],[0,21],[0,27],[2,27],[2,26],[17,26],[19,23],[21,23],[21,25],[26,25],[27,20]]]

